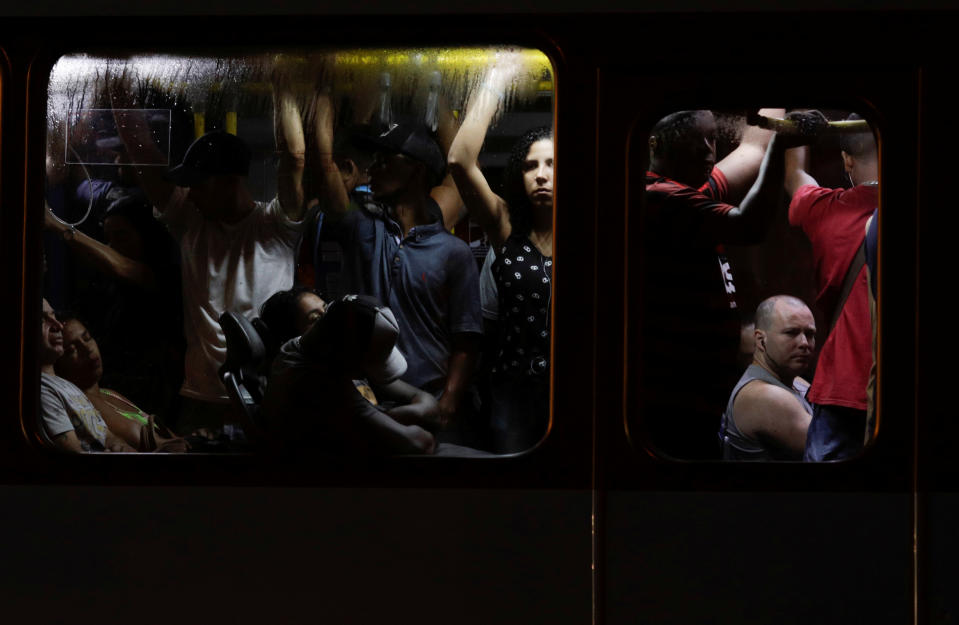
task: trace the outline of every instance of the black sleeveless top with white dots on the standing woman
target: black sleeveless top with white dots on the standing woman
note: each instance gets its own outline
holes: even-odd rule
[[[510,236],[496,250],[493,278],[502,324],[493,375],[547,375],[552,257],[544,256],[527,237]]]

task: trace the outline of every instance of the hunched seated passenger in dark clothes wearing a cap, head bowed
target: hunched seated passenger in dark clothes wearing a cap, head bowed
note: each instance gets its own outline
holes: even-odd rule
[[[435,439],[424,426],[438,427],[438,402],[399,380],[406,360],[396,349],[398,334],[389,308],[347,295],[303,336],[284,343],[262,405],[276,442],[333,454],[433,453]],[[365,397],[354,383],[362,378],[394,407]]]

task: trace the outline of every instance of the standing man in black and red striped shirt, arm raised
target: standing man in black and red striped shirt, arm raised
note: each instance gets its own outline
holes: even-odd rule
[[[760,114],[781,118],[784,111]],[[673,113],[650,133],[640,397],[647,436],[666,455],[720,457],[720,416],[742,372],[736,287],[723,246],[762,240],[781,206],[786,149],[809,143],[825,124],[818,113],[790,117],[796,132],[747,127],[719,163],[710,111]]]

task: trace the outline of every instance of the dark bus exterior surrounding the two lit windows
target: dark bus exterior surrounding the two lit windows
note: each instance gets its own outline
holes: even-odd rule
[[[5,622],[959,623],[946,189],[959,14],[511,11],[0,22]],[[59,56],[487,44],[538,48],[555,70],[540,445],[361,463],[74,457],[35,440],[46,80]],[[628,428],[642,146],[668,112],[759,103],[865,111],[877,128],[879,435],[841,463],[666,461]]]

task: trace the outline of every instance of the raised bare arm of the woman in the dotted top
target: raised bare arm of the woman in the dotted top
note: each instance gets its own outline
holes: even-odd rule
[[[448,157],[450,174],[466,209],[497,247],[506,241],[512,231],[509,209],[503,198],[493,193],[480,170],[479,153],[493,115],[517,69],[515,60],[497,63],[490,68],[483,83],[470,96],[466,118],[453,139]]]

